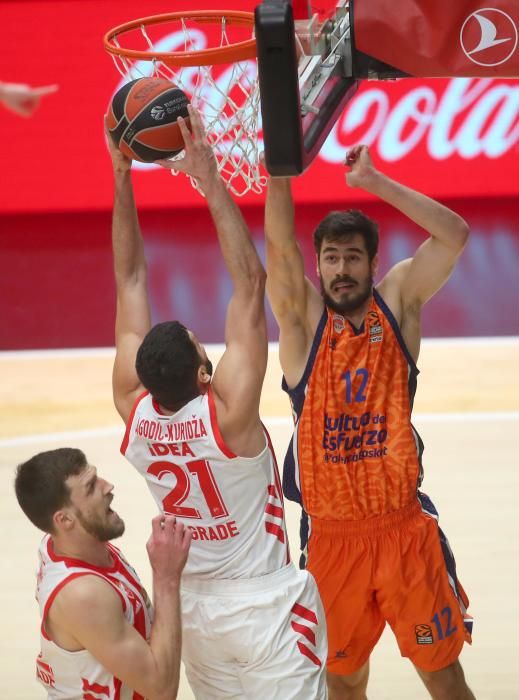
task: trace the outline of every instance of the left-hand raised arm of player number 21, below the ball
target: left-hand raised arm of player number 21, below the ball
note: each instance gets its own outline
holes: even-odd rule
[[[131,180],[131,160],[114,145],[106,132],[114,169],[112,250],[117,310],[116,356],[113,369],[115,407],[126,423],[142,385],[135,371],[135,357],[151,328],[144,243]]]

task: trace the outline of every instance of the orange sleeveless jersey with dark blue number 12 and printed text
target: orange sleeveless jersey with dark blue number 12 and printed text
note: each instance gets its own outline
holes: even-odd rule
[[[284,490],[310,518],[364,520],[416,500],[423,449],[411,425],[417,374],[376,290],[358,330],[324,310],[301,381],[290,390],[283,384],[296,420]]]

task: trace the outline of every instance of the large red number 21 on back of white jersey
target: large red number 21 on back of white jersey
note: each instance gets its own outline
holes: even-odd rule
[[[181,466],[173,462],[153,462],[148,467],[148,473],[153,474],[159,480],[168,474],[173,474],[176,479],[175,486],[162,499],[164,512],[169,515],[178,515],[182,518],[203,518],[203,515],[196,508],[182,505],[191,491],[192,478],[197,477],[200,491],[211,516],[213,518],[224,518],[226,515],[229,515],[209,462],[204,459],[196,459],[192,462],[187,462],[186,467],[189,470],[189,474]]]

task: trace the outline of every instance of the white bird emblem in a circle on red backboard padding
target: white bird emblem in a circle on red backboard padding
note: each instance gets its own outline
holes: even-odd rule
[[[518,39],[512,17],[493,7],[484,7],[469,15],[460,32],[465,56],[478,66],[506,63],[515,53]]]

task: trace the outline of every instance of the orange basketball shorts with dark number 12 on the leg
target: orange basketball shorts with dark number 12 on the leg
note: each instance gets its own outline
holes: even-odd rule
[[[332,673],[363,666],[386,622],[402,656],[423,671],[445,668],[471,642],[452,552],[420,502],[366,521],[312,519],[307,568],[326,613]]]

